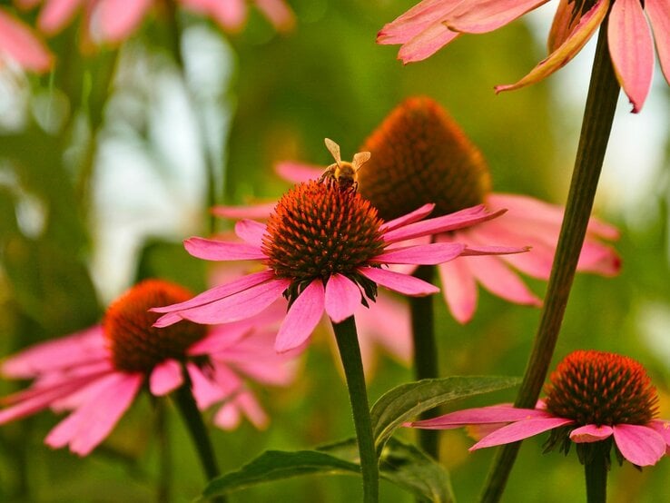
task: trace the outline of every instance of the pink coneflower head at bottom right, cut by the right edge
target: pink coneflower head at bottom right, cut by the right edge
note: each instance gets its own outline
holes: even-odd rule
[[[670,454],[670,421],[655,419],[658,397],[645,368],[636,360],[596,350],[567,355],[550,377],[547,398],[536,409],[509,404],[464,409],[438,418],[407,423],[422,429],[489,426],[492,432],[470,450],[493,447],[554,430],[547,448],[567,452],[577,444],[580,459],[593,442],[616,446],[619,459],[654,465]],[[620,456],[618,456],[620,454]]]

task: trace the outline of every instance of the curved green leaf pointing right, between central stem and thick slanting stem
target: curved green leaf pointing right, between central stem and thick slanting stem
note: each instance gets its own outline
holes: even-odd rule
[[[377,451],[402,423],[425,410],[456,399],[511,388],[519,381],[518,378],[494,376],[448,377],[398,386],[379,398],[370,410]]]

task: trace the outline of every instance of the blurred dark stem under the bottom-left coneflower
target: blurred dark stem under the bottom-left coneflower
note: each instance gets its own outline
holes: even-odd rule
[[[174,403],[182,414],[182,419],[186,423],[186,428],[191,434],[193,445],[198,452],[198,457],[202,464],[207,480],[218,477],[220,475],[219,467],[214,457],[214,449],[212,449],[212,442],[207,434],[202,415],[198,406],[195,404],[191,390],[191,380],[186,381],[172,394]],[[224,496],[215,499],[219,503],[224,503],[226,498]]]

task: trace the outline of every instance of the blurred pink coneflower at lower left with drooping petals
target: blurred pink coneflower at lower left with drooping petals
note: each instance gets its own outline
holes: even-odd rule
[[[155,396],[166,395],[182,386],[185,370],[201,409],[223,403],[214,416],[218,426],[234,428],[244,415],[264,427],[267,416],[245,381],[286,385],[291,380],[286,356],[268,344],[275,332],[264,328],[281,312],[268,310],[262,318],[209,332],[190,321],[163,330],[152,327],[157,315],[149,307],[189,296],[166,281],[143,281],[113,302],[100,325],[5,360],[5,376],[34,383],[0,399],[6,406],[0,424],[47,407],[72,410],[45,442],[53,448],[69,445],[85,456],[109,435],[139,390],[146,386]]]

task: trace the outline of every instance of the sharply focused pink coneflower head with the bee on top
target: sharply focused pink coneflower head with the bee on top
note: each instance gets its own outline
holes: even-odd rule
[[[197,323],[237,321],[264,310],[284,295],[291,307],[281,323],[275,349],[292,350],[308,340],[324,311],[331,321],[344,321],[361,303],[374,301],[378,285],[413,296],[438,291],[426,281],[389,271],[385,267],[389,264],[436,264],[461,255],[525,251],[467,247],[457,242],[408,244],[407,240],[467,227],[504,212],[487,212],[483,206],[475,206],[421,221],[432,208],[432,204],[425,204],[382,222],[368,201],[353,188],[342,188],[334,178],[300,183],[281,197],[267,224],[237,222],[235,232],[243,243],[186,240],[186,250],[201,259],[258,260],[266,269],[190,301],[154,309],[166,313],[156,326],[182,319]]]

